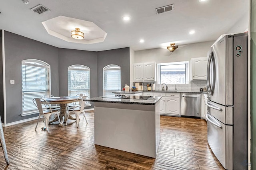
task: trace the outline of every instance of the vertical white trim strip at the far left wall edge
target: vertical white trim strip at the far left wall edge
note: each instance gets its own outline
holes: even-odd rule
[[[4,97],[4,124],[6,124],[6,84],[5,84],[5,51],[4,51],[4,29],[2,29],[2,60],[3,60],[3,97]]]

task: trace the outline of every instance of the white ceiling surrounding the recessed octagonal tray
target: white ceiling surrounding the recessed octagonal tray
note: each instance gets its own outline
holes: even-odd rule
[[[0,29],[60,48],[103,51],[131,47],[135,51],[213,41],[222,34],[248,28],[249,0],[0,0]],[[42,4],[51,11],[30,10]],[[172,12],[155,8],[174,4]],[[106,33],[104,42],[80,44],[49,35],[43,21],[58,16],[92,21]],[[130,21],[123,21],[130,16]],[[245,21],[247,20],[247,21]],[[188,34],[195,30],[193,35]],[[144,43],[139,40],[144,39]]]

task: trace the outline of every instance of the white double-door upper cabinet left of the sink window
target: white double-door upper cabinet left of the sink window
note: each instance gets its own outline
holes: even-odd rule
[[[133,64],[134,82],[155,82],[156,63],[136,63]]]

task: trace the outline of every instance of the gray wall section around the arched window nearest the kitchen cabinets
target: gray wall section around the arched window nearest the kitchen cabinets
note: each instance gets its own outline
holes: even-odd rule
[[[130,84],[130,48],[99,51],[98,55],[98,96],[103,96],[103,68],[109,64],[121,67],[121,88]]]

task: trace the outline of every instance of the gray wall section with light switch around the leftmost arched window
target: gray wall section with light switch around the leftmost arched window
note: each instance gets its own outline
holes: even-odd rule
[[[59,96],[58,48],[20,35],[4,31],[6,69],[6,123],[28,119],[36,115],[21,117],[22,81],[21,62],[38,59],[51,66],[51,92]],[[10,79],[15,84],[10,84]]]

